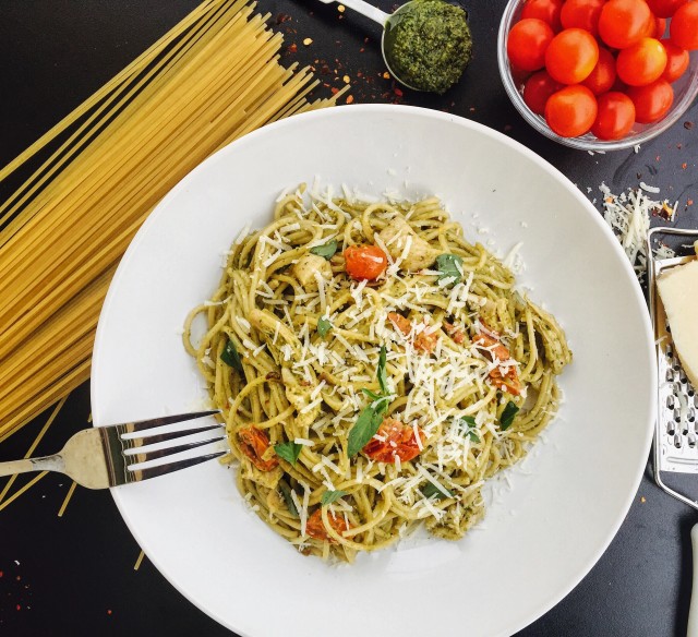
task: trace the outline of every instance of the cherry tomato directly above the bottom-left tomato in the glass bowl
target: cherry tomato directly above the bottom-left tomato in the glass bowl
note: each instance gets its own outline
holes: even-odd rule
[[[553,80],[563,84],[579,84],[599,61],[599,45],[582,28],[561,31],[545,51],[545,69]]]

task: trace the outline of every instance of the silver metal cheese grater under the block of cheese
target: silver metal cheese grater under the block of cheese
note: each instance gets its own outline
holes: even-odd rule
[[[671,326],[666,323],[666,314],[657,290],[660,274],[695,260],[696,255],[653,259],[652,238],[660,233],[677,235],[695,241],[698,240],[698,230],[652,228],[648,232],[647,274],[659,380],[652,461],[654,481],[670,495],[698,509],[698,502],[666,485],[661,477],[662,471],[698,473],[698,392],[686,377],[676,356]]]

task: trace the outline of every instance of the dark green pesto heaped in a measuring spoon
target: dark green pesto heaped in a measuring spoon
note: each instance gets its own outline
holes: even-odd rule
[[[390,70],[420,91],[443,94],[466,70],[472,37],[466,12],[445,0],[413,0],[385,25],[384,52]]]

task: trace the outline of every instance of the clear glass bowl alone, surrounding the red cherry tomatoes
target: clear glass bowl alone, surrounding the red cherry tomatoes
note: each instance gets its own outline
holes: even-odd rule
[[[524,85],[528,75],[516,75],[513,72],[509,59],[506,52],[506,41],[512,27],[520,19],[521,10],[526,4],[526,0],[509,0],[504,10],[502,22],[500,23],[500,34],[497,38],[497,62],[500,65],[500,74],[509,99],[521,113],[521,117],[531,124],[539,133],[554,140],[571,148],[591,152],[622,151],[625,148],[637,147],[640,144],[649,142],[672,127],[690,107],[696,96],[698,96],[698,51],[690,52],[690,63],[688,70],[672,84],[674,89],[674,101],[669,112],[661,120],[641,124],[635,122],[630,132],[622,140],[604,141],[599,140],[591,133],[587,133],[579,137],[562,137],[551,130],[545,119],[534,113],[524,101]],[[667,27],[669,32],[669,27]],[[666,36],[669,37],[669,36]]]

